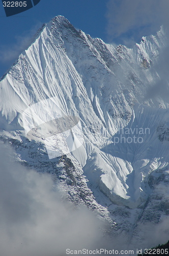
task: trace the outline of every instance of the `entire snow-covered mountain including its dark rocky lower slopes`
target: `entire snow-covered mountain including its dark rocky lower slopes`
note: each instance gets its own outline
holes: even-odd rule
[[[115,49],[57,16],[0,82],[1,138],[14,145],[18,160],[55,175],[70,199],[115,221],[115,233],[129,230],[127,239],[152,195],[151,175],[168,168],[168,100],[148,97],[160,80],[155,65],[164,47],[162,28],[133,49]],[[52,108],[43,106],[49,100]],[[25,138],[27,110],[34,140]],[[84,141],[69,160],[49,160],[46,132],[37,135],[36,125],[61,116],[80,120]],[[57,145],[64,152],[62,139]]]

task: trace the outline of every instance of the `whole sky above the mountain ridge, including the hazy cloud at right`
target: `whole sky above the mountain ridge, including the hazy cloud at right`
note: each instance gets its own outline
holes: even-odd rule
[[[0,3],[0,77],[42,24],[56,15],[92,37],[131,47],[168,24],[168,11],[166,0],[41,0],[30,10],[6,17]]]

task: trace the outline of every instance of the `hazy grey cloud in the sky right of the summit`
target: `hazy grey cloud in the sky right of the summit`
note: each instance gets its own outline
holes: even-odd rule
[[[109,0],[107,34],[109,40],[123,44],[139,42],[168,24],[169,2],[165,0]],[[128,46],[131,46],[131,42]]]

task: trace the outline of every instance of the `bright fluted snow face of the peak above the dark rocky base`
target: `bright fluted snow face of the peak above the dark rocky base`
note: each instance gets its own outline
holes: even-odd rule
[[[157,110],[159,103],[164,108],[167,102],[161,97],[143,102],[158,77],[151,67],[164,45],[163,37],[161,29],[133,49],[115,49],[76,31],[62,16],[53,18],[1,81],[2,128],[17,131],[19,123],[27,137],[46,144],[50,159],[72,152],[69,157],[78,161],[87,179],[111,202],[138,206],[148,195],[145,176],[154,170],[151,162],[155,168],[168,163],[154,129],[165,112]],[[149,129],[152,136],[131,141],[135,139],[131,134],[124,145],[112,143],[126,125]],[[148,166],[141,173],[142,162]]]

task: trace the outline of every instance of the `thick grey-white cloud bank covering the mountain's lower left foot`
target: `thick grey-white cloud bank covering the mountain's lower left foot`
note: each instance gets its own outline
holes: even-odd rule
[[[61,201],[48,175],[14,162],[0,145],[0,247],[3,256],[65,255],[66,249],[93,248],[102,226],[85,207]]]

